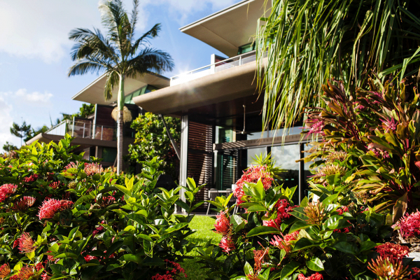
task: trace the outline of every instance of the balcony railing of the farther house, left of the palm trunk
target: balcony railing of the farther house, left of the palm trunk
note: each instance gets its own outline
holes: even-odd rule
[[[116,141],[116,127],[108,125],[93,125],[92,120],[63,120],[61,123],[45,132],[64,136],[66,133],[72,137]]]

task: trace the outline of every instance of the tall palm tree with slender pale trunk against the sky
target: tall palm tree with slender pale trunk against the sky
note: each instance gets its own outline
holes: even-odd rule
[[[102,25],[106,36],[99,29],[73,29],[69,38],[76,41],[71,50],[75,62],[69,69],[69,76],[83,75],[87,72],[105,71],[107,79],[104,89],[105,100],[112,97],[112,90],[118,91],[118,153],[117,172],[123,164],[123,120],[125,78],[134,78],[149,71],[162,73],[172,71],[174,62],[167,52],[150,47],[149,40],[158,36],[160,24],[156,24],[145,34],[134,40],[134,27],[137,22],[139,1],[134,0],[131,18],[127,15],[120,0],[110,0],[99,5]]]

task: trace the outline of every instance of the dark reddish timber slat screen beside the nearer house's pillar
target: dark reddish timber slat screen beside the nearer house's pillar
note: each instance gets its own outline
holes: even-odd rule
[[[188,163],[187,176],[193,178],[197,186],[207,184],[195,200],[208,200],[208,190],[213,185],[213,126],[202,123],[189,122],[188,124]],[[207,209],[202,204],[197,210]]]

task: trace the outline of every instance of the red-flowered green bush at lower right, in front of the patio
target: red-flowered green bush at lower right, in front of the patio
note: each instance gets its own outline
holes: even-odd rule
[[[393,230],[386,225],[385,215],[337,204],[337,194],[345,188],[337,186],[335,194],[317,202],[305,197],[296,207],[292,202],[296,188],[273,188],[260,179],[242,185],[244,202],[239,207],[246,209],[244,214],[231,214],[230,197],[209,201],[220,211],[214,227],[223,236],[218,246],[198,249],[200,262],[211,269],[209,279],[418,276],[419,262],[405,258],[409,248],[386,242]]]

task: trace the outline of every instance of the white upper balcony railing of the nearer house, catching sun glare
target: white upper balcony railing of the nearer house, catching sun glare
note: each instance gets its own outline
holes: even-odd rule
[[[186,83],[189,80],[195,80],[196,78],[201,78],[207,75],[211,75],[217,73],[219,71],[230,69],[232,67],[241,66],[248,62],[254,62],[256,59],[255,57],[255,50],[252,52],[246,52],[242,55],[237,55],[236,57],[230,57],[228,59],[224,59],[220,62],[215,62],[213,64],[200,67],[193,71],[188,71],[186,73],[182,73],[180,75],[173,76],[171,78],[171,86],[178,85],[180,83]]]

